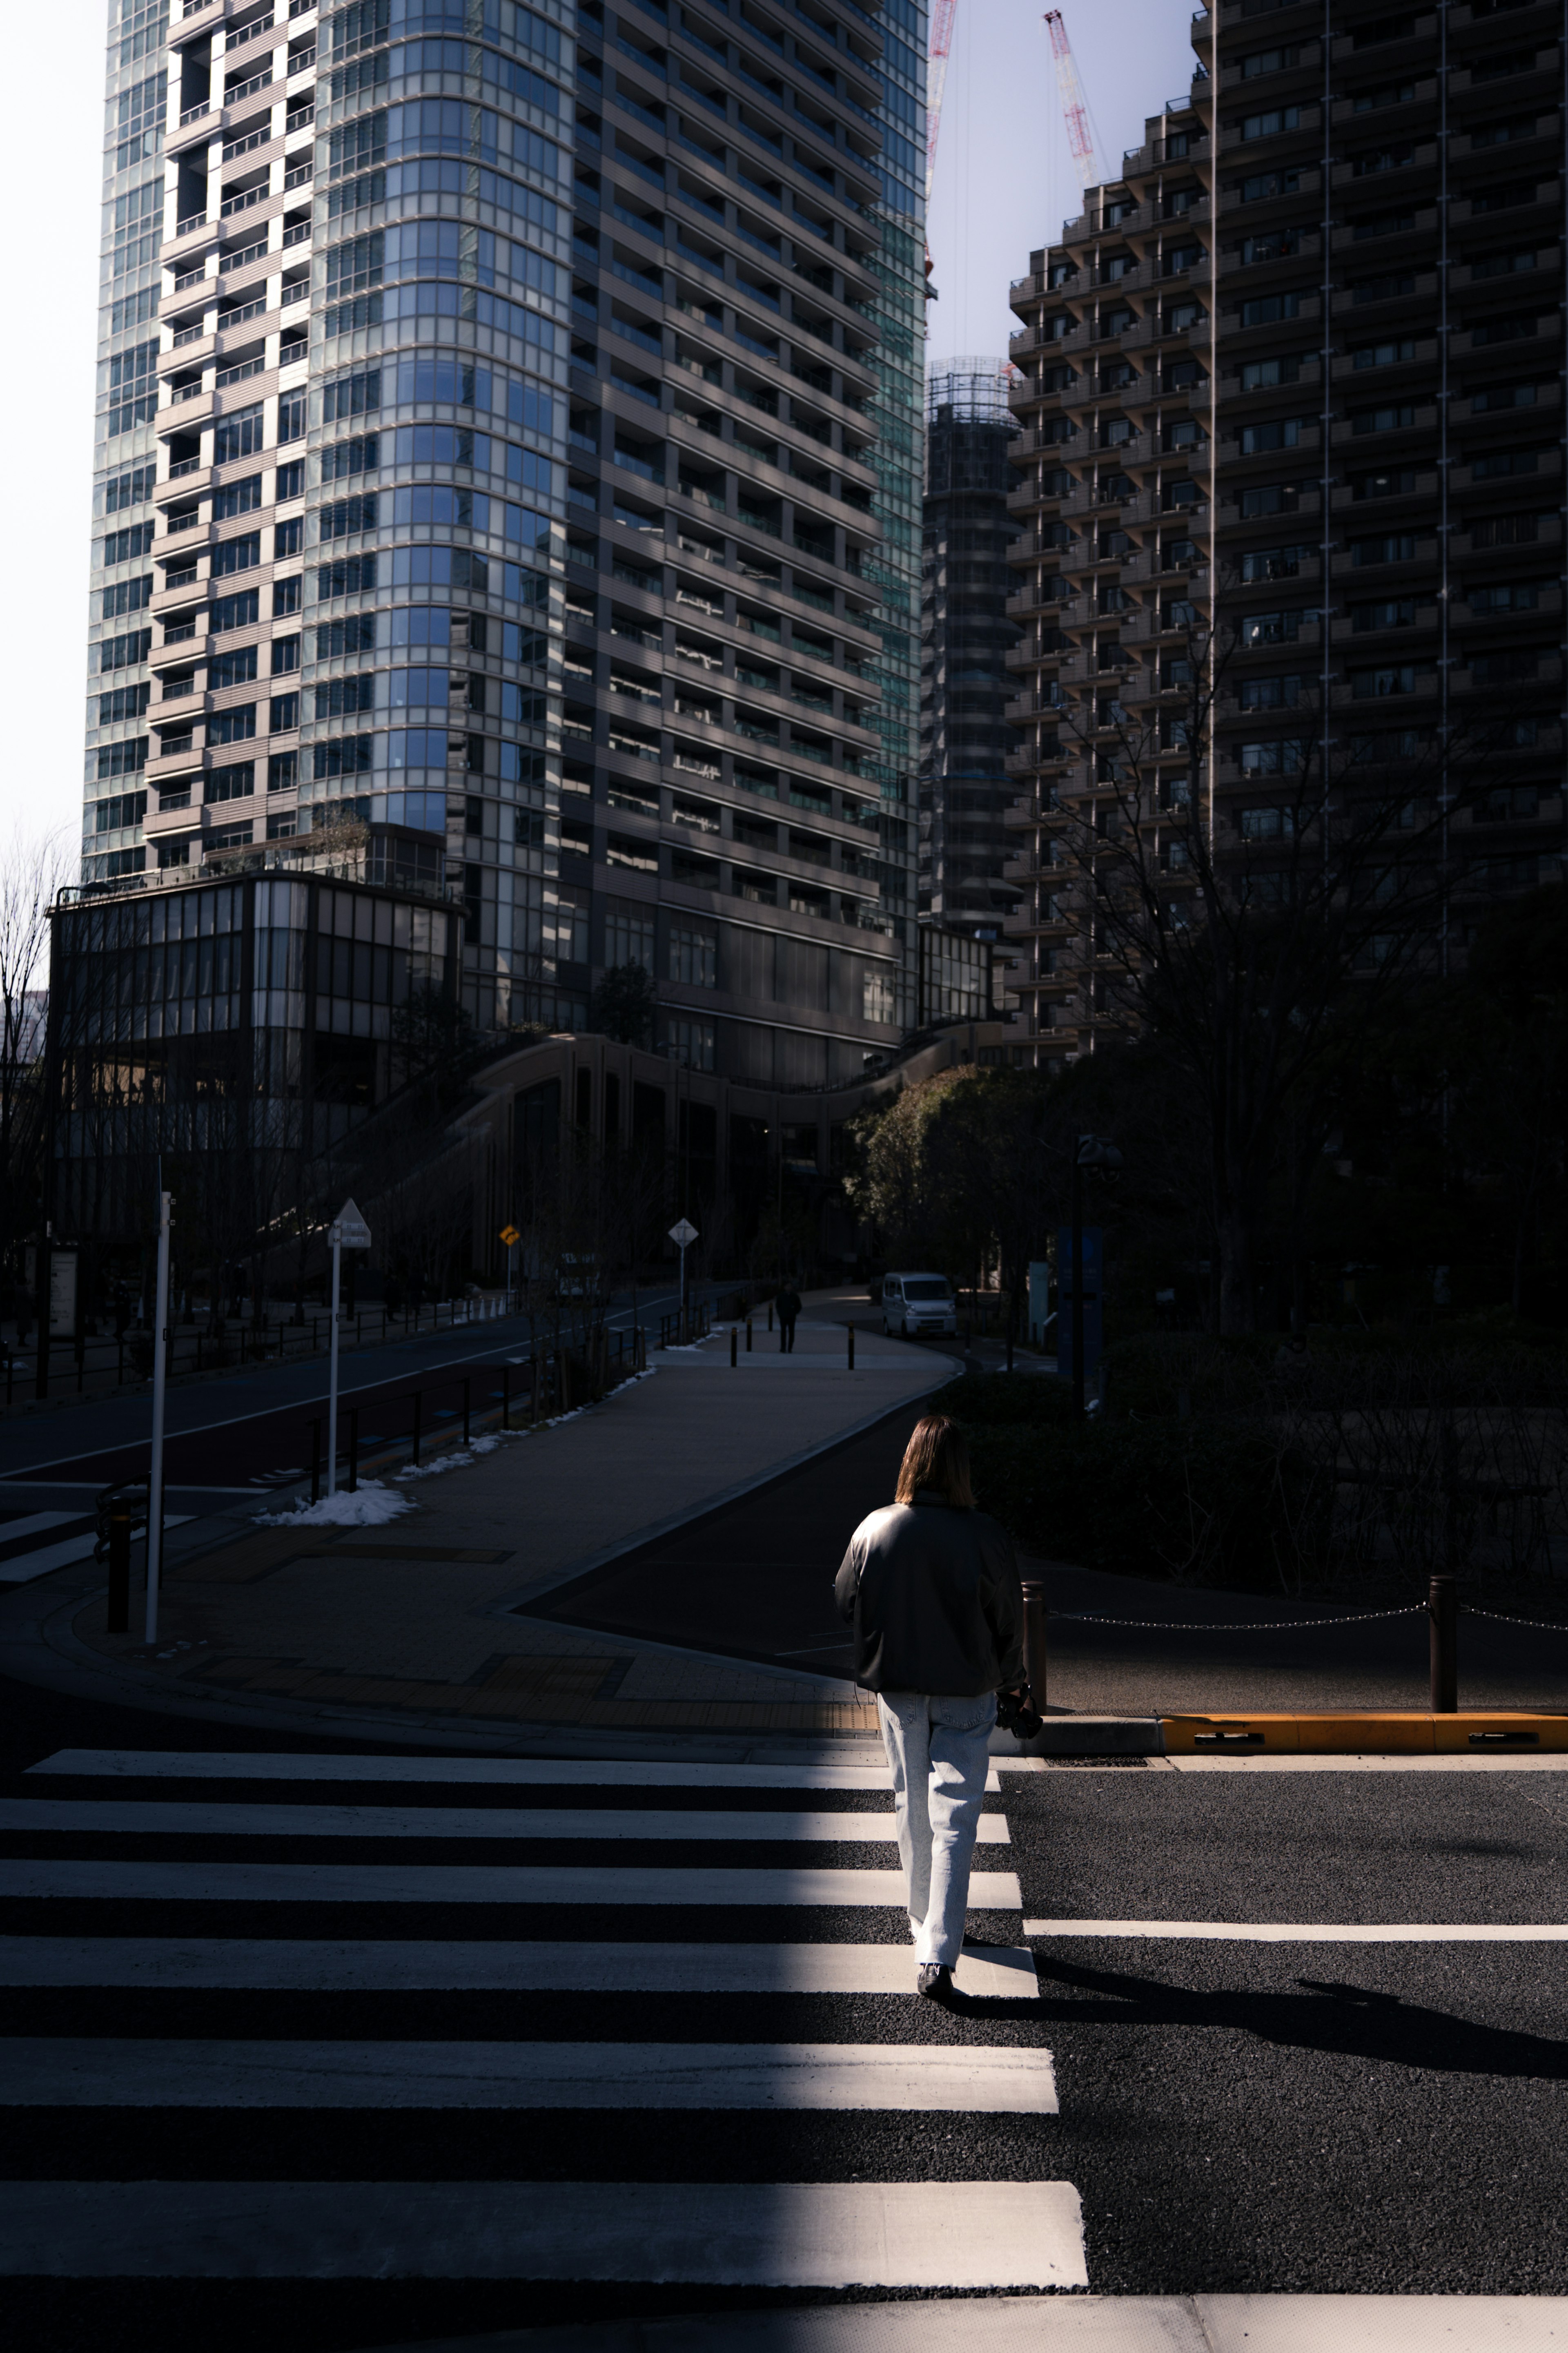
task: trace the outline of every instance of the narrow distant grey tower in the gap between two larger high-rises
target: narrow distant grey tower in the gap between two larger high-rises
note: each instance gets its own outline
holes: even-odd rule
[[[1006,652],[1018,642],[1006,614],[1018,433],[1009,376],[1006,360],[943,360],[926,374],[919,920],[933,936],[922,936],[924,1021],[990,1009],[990,948],[964,953],[959,941],[997,939],[1018,904],[1018,885],[1001,873],[1013,849]]]

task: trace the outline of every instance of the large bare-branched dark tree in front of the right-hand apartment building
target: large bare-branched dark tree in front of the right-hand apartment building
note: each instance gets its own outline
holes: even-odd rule
[[[1255,786],[1218,788],[1229,746],[1215,720],[1239,715],[1241,645],[1190,614],[1185,656],[1161,666],[1143,720],[1117,671],[1070,656],[1063,720],[1086,774],[1041,809],[1095,1019],[1157,1035],[1204,1106],[1225,1332],[1255,1327],[1281,1153],[1300,1167],[1321,1155],[1326,1073],[1441,967],[1460,880],[1450,819],[1495,744],[1483,727],[1349,734],[1354,713],[1302,673],[1272,682],[1293,734],[1255,746]]]

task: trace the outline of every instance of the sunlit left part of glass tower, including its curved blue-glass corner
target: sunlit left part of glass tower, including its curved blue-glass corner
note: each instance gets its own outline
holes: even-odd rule
[[[557,1016],[564,14],[186,0],[110,47],[85,880],[435,835],[482,1026]]]

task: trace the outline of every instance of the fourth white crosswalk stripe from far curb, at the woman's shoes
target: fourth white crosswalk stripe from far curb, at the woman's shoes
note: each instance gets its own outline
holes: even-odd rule
[[[912,1993],[903,1944],[510,1944],[306,1937],[0,1937],[0,1986],[308,1993]],[[1034,2000],[1023,1944],[966,1946],[959,1993]]]

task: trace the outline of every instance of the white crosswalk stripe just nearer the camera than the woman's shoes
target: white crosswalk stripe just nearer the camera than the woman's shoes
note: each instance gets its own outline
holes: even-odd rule
[[[910,2108],[1056,2115],[1044,2049],[9,2035],[2,2108]]]

